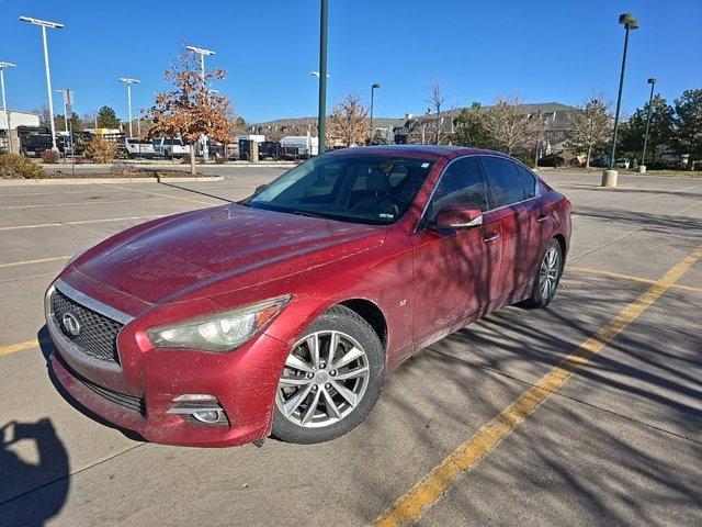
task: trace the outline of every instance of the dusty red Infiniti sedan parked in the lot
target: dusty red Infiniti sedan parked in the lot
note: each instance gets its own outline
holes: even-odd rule
[[[46,293],[50,362],[82,406],[149,441],[325,441],[412,352],[548,304],[569,236],[570,202],[501,154],[337,150],[75,257]]]

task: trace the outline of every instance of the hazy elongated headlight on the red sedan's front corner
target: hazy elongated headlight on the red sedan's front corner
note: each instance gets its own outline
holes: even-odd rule
[[[241,346],[263,328],[290,299],[291,296],[281,296],[181,324],[155,327],[147,333],[157,348],[228,351]]]

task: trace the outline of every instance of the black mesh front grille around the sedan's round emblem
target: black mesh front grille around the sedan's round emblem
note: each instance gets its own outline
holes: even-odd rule
[[[83,354],[100,360],[120,363],[117,355],[117,333],[122,324],[89,310],[58,290],[52,294],[52,311],[58,329]],[[80,323],[78,335],[71,334],[64,325],[64,315],[72,314]]]

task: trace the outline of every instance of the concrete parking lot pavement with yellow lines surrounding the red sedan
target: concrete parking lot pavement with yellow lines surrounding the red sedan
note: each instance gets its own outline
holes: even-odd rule
[[[0,524],[702,525],[700,179],[544,172],[574,203],[554,302],[417,354],[335,441],[176,448],[81,414],[47,372],[49,281],[86,246],[282,169],[230,172],[0,187]]]

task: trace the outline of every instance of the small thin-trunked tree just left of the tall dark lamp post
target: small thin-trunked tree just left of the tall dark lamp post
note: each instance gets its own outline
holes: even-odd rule
[[[570,115],[570,137],[568,144],[578,153],[586,154],[585,166],[590,168],[592,150],[603,145],[612,132],[610,104],[603,93],[593,92],[585,103]]]

